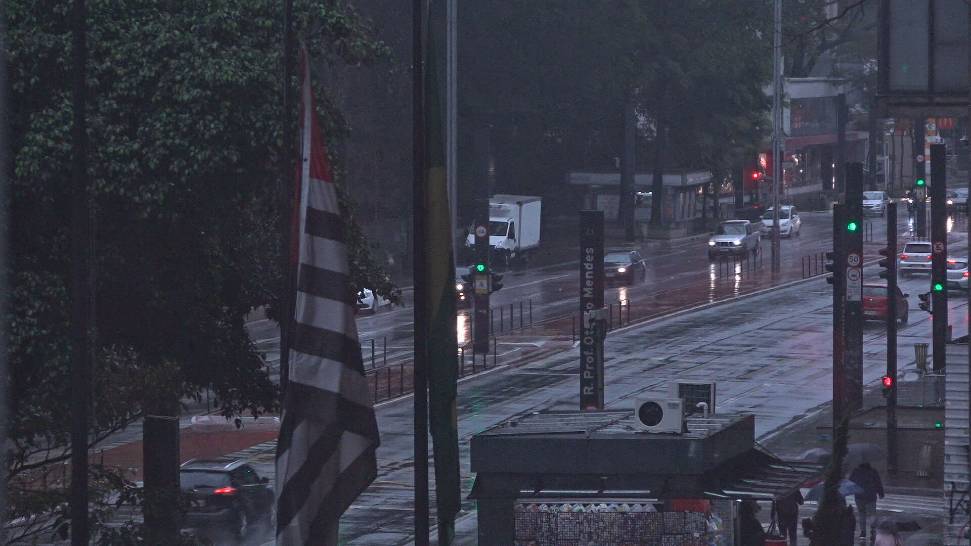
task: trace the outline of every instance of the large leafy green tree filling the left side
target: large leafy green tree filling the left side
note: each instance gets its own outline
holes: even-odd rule
[[[294,4],[297,35],[318,65],[387,54],[351,6]],[[66,0],[5,7],[13,219],[5,521],[23,524],[8,535],[22,541],[67,529],[56,463],[70,458],[71,25]],[[282,285],[276,188],[290,178],[281,163],[282,10],[262,0],[87,2],[92,446],[147,409],[198,400],[204,389],[227,418],[277,407],[245,319],[272,307]],[[318,96],[325,130],[346,134],[322,87]],[[363,233],[349,228],[355,282],[397,299]],[[104,519],[124,476],[92,472],[92,514]]]

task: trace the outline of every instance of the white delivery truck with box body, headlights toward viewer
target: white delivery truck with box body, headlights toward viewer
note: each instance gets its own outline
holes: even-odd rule
[[[529,251],[540,246],[542,197],[496,193],[488,200],[488,244],[492,260],[508,265],[510,260],[525,261]],[[465,246],[476,243],[476,224],[472,224]]]

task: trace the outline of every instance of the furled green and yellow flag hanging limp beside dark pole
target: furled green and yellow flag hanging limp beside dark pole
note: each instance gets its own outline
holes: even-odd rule
[[[430,25],[429,25],[430,26]],[[458,420],[455,394],[458,381],[455,267],[452,256],[452,215],[445,176],[441,104],[431,32],[425,51],[425,236],[424,259],[428,301],[428,409],[435,450],[435,497],[438,504],[438,543],[452,544],[460,503],[458,477]],[[420,463],[420,461],[416,461]]]

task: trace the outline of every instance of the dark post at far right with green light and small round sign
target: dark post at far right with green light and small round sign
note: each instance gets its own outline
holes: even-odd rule
[[[930,301],[934,371],[944,371],[948,342],[948,197],[947,147],[930,145]]]

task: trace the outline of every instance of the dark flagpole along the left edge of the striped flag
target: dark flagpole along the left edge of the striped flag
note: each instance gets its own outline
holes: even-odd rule
[[[293,146],[293,0],[284,0],[284,173],[281,178],[280,189],[280,257],[283,267],[284,286],[280,298],[280,397],[283,404],[286,382],[290,375],[289,337],[290,324],[293,322],[293,298],[296,297],[296,287],[293,281],[294,265],[290,259],[291,245],[293,245],[293,205],[296,192],[294,191],[294,152]]]

